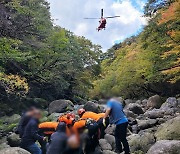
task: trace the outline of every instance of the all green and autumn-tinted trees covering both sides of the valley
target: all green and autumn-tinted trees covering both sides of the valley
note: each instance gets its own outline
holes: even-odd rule
[[[180,1],[149,0],[142,33],[101,46],[55,26],[46,0],[0,1],[0,107],[180,92]],[[1,113],[0,113],[1,114]]]

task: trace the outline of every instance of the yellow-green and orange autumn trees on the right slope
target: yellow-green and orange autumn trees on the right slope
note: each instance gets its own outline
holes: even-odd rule
[[[149,0],[145,16],[142,33],[104,54],[92,97],[180,94],[180,1]]]

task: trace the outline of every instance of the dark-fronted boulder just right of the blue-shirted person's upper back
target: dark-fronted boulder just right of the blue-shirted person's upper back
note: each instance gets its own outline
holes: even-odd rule
[[[144,113],[142,107],[139,104],[136,104],[136,103],[130,103],[129,105],[127,105],[126,110],[130,110],[134,114],[138,114],[138,115]]]

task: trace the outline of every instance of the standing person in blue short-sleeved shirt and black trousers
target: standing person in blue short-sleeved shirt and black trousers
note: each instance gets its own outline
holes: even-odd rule
[[[125,151],[125,154],[130,154],[129,144],[126,139],[128,119],[123,112],[123,105],[117,99],[113,98],[107,102],[107,109],[104,116],[105,118],[109,116],[111,124],[116,125],[115,129],[115,140],[116,140],[116,152],[121,153]],[[122,148],[122,145],[124,149]]]

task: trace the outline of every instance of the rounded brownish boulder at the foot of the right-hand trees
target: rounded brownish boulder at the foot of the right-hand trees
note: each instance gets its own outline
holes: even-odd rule
[[[154,95],[152,97],[150,97],[147,101],[147,108],[160,108],[162,105],[162,100],[161,97],[159,95]]]

